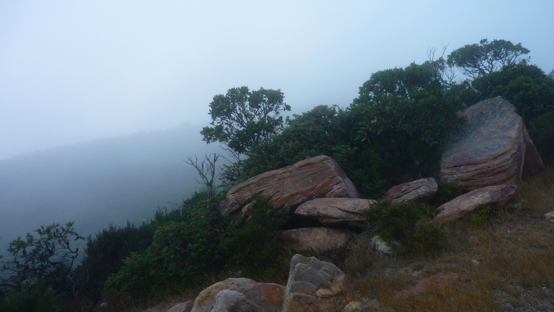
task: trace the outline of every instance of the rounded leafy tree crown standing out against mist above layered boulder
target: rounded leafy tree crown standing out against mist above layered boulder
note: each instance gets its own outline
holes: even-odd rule
[[[213,127],[204,127],[200,132],[208,143],[225,143],[235,159],[247,154],[250,148],[283,129],[283,111],[290,106],[283,102],[281,90],[248,87],[229,89],[226,95],[216,95],[210,103],[209,113]]]

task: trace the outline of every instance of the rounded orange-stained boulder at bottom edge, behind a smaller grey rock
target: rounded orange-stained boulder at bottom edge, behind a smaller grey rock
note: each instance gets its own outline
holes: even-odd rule
[[[223,289],[234,290],[252,300],[264,312],[279,312],[283,306],[285,287],[274,283],[258,283],[249,278],[228,278],[202,290],[191,312],[208,312],[216,295]]]

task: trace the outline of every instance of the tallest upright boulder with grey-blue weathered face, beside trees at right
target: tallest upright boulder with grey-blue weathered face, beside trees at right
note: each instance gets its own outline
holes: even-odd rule
[[[477,103],[458,116],[466,122],[444,146],[440,180],[468,190],[518,184],[526,138],[516,108],[499,96]]]

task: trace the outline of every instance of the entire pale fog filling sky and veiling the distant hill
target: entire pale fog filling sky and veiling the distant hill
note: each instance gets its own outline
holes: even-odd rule
[[[554,2],[0,1],[0,251],[39,225],[88,235],[198,189],[183,160],[231,87],[291,113],[347,106],[372,72],[487,38],[554,69]],[[184,125],[182,125],[184,123]],[[181,125],[181,126],[179,126]]]

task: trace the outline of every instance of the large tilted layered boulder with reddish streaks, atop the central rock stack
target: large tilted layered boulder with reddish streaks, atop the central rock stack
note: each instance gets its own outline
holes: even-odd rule
[[[361,197],[335,160],[323,155],[268,171],[234,186],[220,210],[230,215],[248,209],[252,194],[271,195],[275,207],[292,208],[320,197]]]

